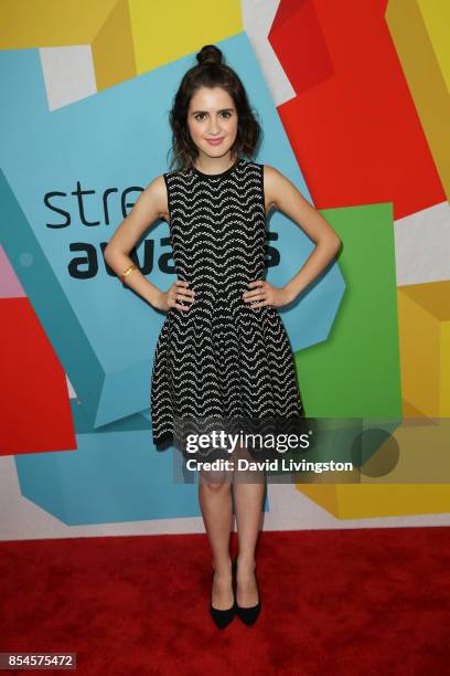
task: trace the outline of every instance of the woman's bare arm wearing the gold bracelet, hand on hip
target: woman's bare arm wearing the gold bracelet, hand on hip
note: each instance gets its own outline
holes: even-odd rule
[[[120,223],[105,247],[104,258],[118,277],[132,264],[128,254],[141,235],[157,219],[167,215],[168,191],[164,177],[159,176],[141,192],[131,212]],[[180,281],[172,284],[168,292],[161,292],[142,275],[139,268],[132,270],[125,281],[150,305],[162,310],[168,310],[170,307],[186,310],[185,306],[176,304],[176,299],[191,300],[193,295],[193,292],[186,288],[188,283]]]

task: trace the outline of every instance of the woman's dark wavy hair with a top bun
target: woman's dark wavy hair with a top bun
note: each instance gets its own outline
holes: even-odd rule
[[[261,137],[257,114],[248,103],[247,93],[238,75],[223,62],[222,51],[214,44],[204,45],[196,54],[197,64],[186,71],[169,112],[172,129],[170,169],[189,171],[199,156],[188,127],[188,108],[200,87],[222,87],[228,92],[236,107],[238,126],[232,156],[253,158]]]

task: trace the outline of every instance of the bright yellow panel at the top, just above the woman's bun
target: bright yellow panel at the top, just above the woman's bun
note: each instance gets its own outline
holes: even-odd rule
[[[244,30],[239,0],[129,0],[129,8],[138,74]]]

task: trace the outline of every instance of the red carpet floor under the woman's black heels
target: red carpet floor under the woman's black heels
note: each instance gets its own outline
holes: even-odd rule
[[[78,674],[449,673],[449,528],[262,532],[261,614],[223,632],[204,535],[1,542],[0,554],[0,652],[77,653]]]

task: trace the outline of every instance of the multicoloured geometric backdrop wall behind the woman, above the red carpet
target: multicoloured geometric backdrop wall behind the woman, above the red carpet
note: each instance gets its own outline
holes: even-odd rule
[[[349,483],[269,485],[264,527],[450,522],[449,7],[3,0],[0,539],[204,530],[152,446],[163,315],[103,251],[168,170],[172,97],[210,43],[260,118],[256,160],[343,241],[281,317],[308,415],[367,421],[371,448]],[[276,285],[312,250],[280,212],[267,245]],[[164,221],[132,255],[173,283]]]

